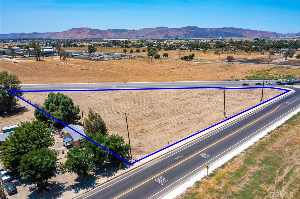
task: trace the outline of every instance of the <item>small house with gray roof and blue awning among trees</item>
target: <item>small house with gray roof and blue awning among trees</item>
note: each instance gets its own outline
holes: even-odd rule
[[[78,131],[82,135],[85,135],[84,128],[82,126],[75,125],[75,124],[69,124],[69,127],[71,127],[74,130]],[[64,133],[65,133],[63,141],[65,143],[70,143],[73,146],[82,146],[83,145],[82,135],[80,135],[79,133],[77,133],[76,131],[72,130],[69,127],[66,126],[63,129],[61,129],[61,131],[64,131]]]

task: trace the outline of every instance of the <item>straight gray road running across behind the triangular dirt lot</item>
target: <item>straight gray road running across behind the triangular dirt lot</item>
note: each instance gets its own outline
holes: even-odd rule
[[[73,89],[118,89],[118,88],[171,88],[171,87],[239,87],[242,83],[256,86],[255,83],[262,80],[252,81],[205,81],[205,82],[126,82],[126,83],[90,83],[90,84],[23,84],[22,90],[73,90]],[[268,80],[276,87],[275,80]],[[259,87],[259,86],[257,86]]]

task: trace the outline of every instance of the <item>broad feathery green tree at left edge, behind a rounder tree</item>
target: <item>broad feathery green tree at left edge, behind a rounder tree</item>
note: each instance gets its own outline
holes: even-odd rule
[[[17,168],[29,151],[54,145],[54,139],[46,124],[38,121],[21,122],[0,146],[1,162],[5,168]]]

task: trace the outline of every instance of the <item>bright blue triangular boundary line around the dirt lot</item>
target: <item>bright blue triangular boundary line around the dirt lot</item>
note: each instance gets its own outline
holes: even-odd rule
[[[124,158],[122,158],[122,157],[120,157],[119,155],[115,154],[113,151],[110,151],[110,150],[106,149],[104,146],[101,146],[100,144],[96,143],[95,141],[93,141],[93,140],[91,140],[90,138],[86,137],[85,135],[79,133],[79,132],[76,131],[75,129],[71,128],[71,127],[68,126],[67,124],[61,122],[60,120],[56,119],[55,117],[53,117],[53,116],[51,116],[50,114],[46,113],[45,111],[41,110],[41,109],[38,108],[37,106],[33,105],[32,103],[28,102],[27,100],[25,100],[25,99],[23,99],[22,97],[20,97],[20,96],[18,96],[18,95],[15,94],[15,93],[21,93],[21,92],[24,93],[24,92],[70,92],[70,91],[136,91],[136,90],[208,89],[208,88],[212,88],[212,89],[224,89],[224,87],[175,87],[175,88],[118,88],[118,89],[92,89],[92,90],[91,90],[91,89],[83,89],[83,90],[40,90],[40,91],[8,91],[8,92],[10,92],[10,93],[13,94],[14,96],[18,97],[19,99],[21,99],[21,100],[27,102],[28,104],[32,105],[33,107],[37,108],[38,110],[42,111],[44,114],[48,115],[49,117],[53,118],[54,120],[58,121],[59,123],[65,125],[65,126],[67,126],[67,127],[69,127],[70,129],[72,129],[72,130],[75,131],[76,133],[80,134],[82,137],[85,137],[86,139],[88,139],[88,140],[90,140],[91,142],[95,143],[96,145],[100,146],[102,149],[107,150],[108,152],[112,153],[113,155],[115,155],[116,157],[120,158],[121,160],[123,160],[124,162],[128,163],[129,165],[133,165],[134,163],[136,163],[136,162],[138,162],[138,161],[140,161],[140,160],[143,160],[143,159],[145,159],[145,158],[147,158],[147,157],[149,157],[149,156],[152,156],[152,155],[154,155],[154,154],[156,154],[156,153],[158,153],[158,152],[160,152],[160,151],[162,151],[162,150],[164,150],[164,149],[167,149],[167,148],[170,147],[170,146],[173,146],[173,145],[175,145],[175,144],[177,144],[177,143],[180,143],[180,142],[182,142],[182,141],[184,141],[184,140],[186,140],[186,139],[188,139],[188,138],[190,138],[190,137],[193,137],[193,136],[195,136],[195,135],[197,135],[197,134],[199,134],[199,133],[201,133],[201,132],[203,132],[203,131],[206,131],[206,130],[208,130],[208,129],[210,129],[210,128],[212,128],[212,127],[218,125],[218,124],[221,124],[221,123],[223,123],[223,122],[225,122],[225,121],[227,121],[227,120],[230,120],[230,119],[232,119],[233,117],[236,117],[236,116],[238,116],[238,115],[240,115],[240,114],[243,114],[244,112],[249,111],[249,110],[251,110],[251,109],[253,109],[253,108],[255,108],[255,107],[259,106],[259,105],[262,105],[262,104],[264,104],[264,103],[266,103],[266,102],[269,102],[269,101],[275,99],[276,97],[279,97],[279,96],[281,96],[281,95],[284,95],[284,94],[290,92],[290,90],[288,90],[288,89],[284,89],[284,88],[274,88],[274,87],[268,87],[268,86],[266,86],[266,87],[245,87],[245,88],[230,88],[230,87],[226,87],[226,89],[232,89],[232,90],[235,90],[235,89],[270,88],[270,89],[282,90],[282,91],[286,91],[286,92],[284,92],[284,93],[282,93],[282,94],[279,94],[279,95],[277,95],[277,96],[275,96],[275,97],[272,97],[271,99],[266,100],[266,101],[264,101],[264,102],[262,102],[262,103],[260,103],[260,104],[258,104],[258,105],[255,105],[255,106],[253,106],[253,107],[251,107],[251,108],[248,108],[247,110],[242,111],[241,113],[238,113],[238,114],[236,114],[236,115],[234,115],[234,116],[232,116],[232,117],[229,117],[229,118],[227,118],[226,120],[223,120],[223,121],[221,121],[221,122],[219,122],[219,123],[216,123],[216,124],[214,124],[214,125],[212,125],[212,126],[210,126],[210,127],[208,127],[208,128],[205,128],[205,129],[203,129],[203,130],[201,130],[201,131],[199,131],[199,132],[197,132],[197,133],[194,133],[194,134],[192,134],[192,135],[190,135],[190,136],[188,136],[188,137],[186,137],[186,138],[184,138],[184,139],[182,139],[182,140],[177,141],[176,143],[173,143],[173,144],[171,144],[171,145],[169,145],[169,146],[166,146],[166,147],[164,147],[164,148],[162,148],[162,149],[160,149],[160,150],[158,150],[158,151],[155,151],[155,152],[153,152],[153,153],[151,153],[151,154],[149,154],[149,155],[147,155],[147,156],[145,156],[145,157],[142,157],[142,158],[140,158],[140,159],[138,159],[138,160],[136,160],[136,161],[134,161],[134,162],[132,162],[132,163],[131,163],[131,162],[128,162],[128,161],[125,160]]]

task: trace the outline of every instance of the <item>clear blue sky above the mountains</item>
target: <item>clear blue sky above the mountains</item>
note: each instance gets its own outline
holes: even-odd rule
[[[300,1],[0,1],[1,33],[239,27],[297,33]]]

